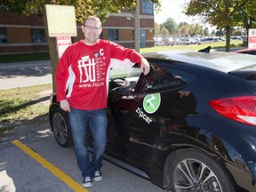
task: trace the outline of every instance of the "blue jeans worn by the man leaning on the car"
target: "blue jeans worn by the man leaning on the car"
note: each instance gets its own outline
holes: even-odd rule
[[[68,120],[76,153],[76,161],[83,177],[92,176],[102,166],[101,161],[107,143],[106,109],[80,110],[70,108]],[[93,137],[92,161],[88,156],[86,130],[89,126]]]

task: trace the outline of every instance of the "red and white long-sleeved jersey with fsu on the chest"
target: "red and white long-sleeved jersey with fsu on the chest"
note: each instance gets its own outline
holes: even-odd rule
[[[56,71],[57,100],[68,100],[72,108],[107,108],[110,68],[132,68],[140,65],[142,56],[108,40],[92,46],[84,40],[68,46]],[[68,94],[66,95],[66,90]]]

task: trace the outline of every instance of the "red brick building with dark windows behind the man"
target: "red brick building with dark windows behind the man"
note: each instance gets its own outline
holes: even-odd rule
[[[84,38],[81,24],[77,23],[73,43]],[[110,14],[102,23],[101,38],[125,47],[134,48],[134,15],[123,10]],[[36,15],[25,16],[14,12],[0,12],[0,54],[20,52],[48,52],[44,20]],[[154,4],[140,0],[140,47],[154,46]]]

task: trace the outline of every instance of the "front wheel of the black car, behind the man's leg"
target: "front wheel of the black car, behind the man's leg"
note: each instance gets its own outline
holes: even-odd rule
[[[52,132],[55,140],[62,148],[68,148],[73,145],[70,125],[68,123],[68,115],[60,108],[52,109],[50,116]]]

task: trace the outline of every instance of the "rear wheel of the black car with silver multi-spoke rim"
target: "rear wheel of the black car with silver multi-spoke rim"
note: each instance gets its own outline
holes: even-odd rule
[[[172,192],[236,191],[234,188],[236,185],[233,180],[229,179],[227,172],[224,172],[224,169],[212,157],[203,152],[187,149],[172,155],[171,158],[169,158],[168,167],[170,167]]]

